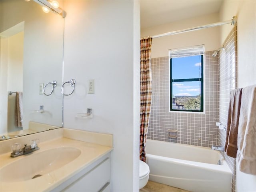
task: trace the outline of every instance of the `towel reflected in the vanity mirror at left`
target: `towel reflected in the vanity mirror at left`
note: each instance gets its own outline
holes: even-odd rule
[[[15,105],[15,126],[22,127],[23,122],[23,105],[22,105],[22,92],[16,92],[16,105]]]

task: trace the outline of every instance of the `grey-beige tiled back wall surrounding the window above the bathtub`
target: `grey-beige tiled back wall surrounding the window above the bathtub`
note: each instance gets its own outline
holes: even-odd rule
[[[218,58],[205,53],[203,113],[169,112],[169,58],[152,58],[152,106],[148,139],[211,147],[218,144]],[[178,138],[168,138],[168,129]]]

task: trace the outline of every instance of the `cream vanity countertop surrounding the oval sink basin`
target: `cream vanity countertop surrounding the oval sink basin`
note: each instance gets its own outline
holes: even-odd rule
[[[49,172],[48,174],[44,174],[38,178],[17,182],[1,182],[1,192],[50,191],[80,172],[82,169],[92,165],[93,162],[108,154],[113,149],[110,146],[103,146],[100,144],[93,144],[64,137],[39,143],[38,146],[40,147],[40,150],[15,158],[10,157],[9,152],[1,154],[0,168],[21,158],[26,158],[27,156],[54,148],[73,147],[79,149],[81,154],[61,168]]]

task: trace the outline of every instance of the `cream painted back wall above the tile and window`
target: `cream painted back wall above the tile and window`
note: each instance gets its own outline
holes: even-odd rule
[[[170,24],[144,28],[141,30],[141,37],[163,34],[166,32],[197,27],[215,22],[219,22],[218,13],[194,17],[178,22],[172,22]],[[217,50],[220,48],[219,30],[220,27],[214,27],[183,34],[154,38],[152,41],[151,58],[166,57],[168,56],[168,50],[172,48],[180,48],[200,44],[205,45],[205,51]]]

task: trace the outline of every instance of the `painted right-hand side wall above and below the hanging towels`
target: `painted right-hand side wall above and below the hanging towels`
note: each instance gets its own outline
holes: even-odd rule
[[[228,20],[237,16],[238,43],[238,87],[256,84],[256,1],[224,1],[220,19]],[[230,32],[231,26],[221,29],[221,43]],[[236,169],[236,191],[256,191],[256,176],[242,173]]]

